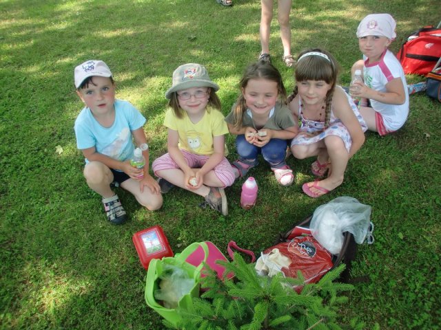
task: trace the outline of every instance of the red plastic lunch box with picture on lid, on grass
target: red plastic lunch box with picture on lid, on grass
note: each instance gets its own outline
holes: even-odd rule
[[[173,256],[172,248],[160,225],[136,232],[132,241],[138,252],[141,265],[147,270],[152,259],[162,259],[164,256]]]

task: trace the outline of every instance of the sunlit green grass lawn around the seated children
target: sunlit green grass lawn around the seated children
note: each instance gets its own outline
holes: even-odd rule
[[[393,14],[395,52],[411,31],[440,19],[436,0],[293,2],[294,54],[326,48],[342,67],[342,85],[360,58],[355,32],[366,14]],[[311,159],[291,157],[297,175],[289,188],[276,184],[263,163],[252,172],[260,188],[252,210],[239,206],[243,180],[227,189],[228,217],[198,208],[201,197],[178,189],[164,196],[158,212],[147,212],[119,191],[130,219],[113,226],[81,173],[73,131],[81,109],[74,67],[88,59],[110,66],[117,96],[150,120],[145,131],[154,159],[166,151],[164,93],[178,65],[205,65],[221,87],[223,113],[229,112],[243,69],[260,52],[260,2],[235,0],[225,8],[214,0],[0,0],[0,19],[1,329],[162,329],[144,301],[146,272],[132,244],[134,232],[161,225],[174,252],[205,240],[226,252],[234,240],[259,253],[279,231],[344,195],[372,206],[376,243],[360,246],[352,274],[368,281],[351,292],[342,324],[440,329],[438,102],[411,96],[404,128],[387,137],[367,133],[345,183],[321,199],[301,192],[312,179]],[[273,23],[271,54],[290,90],[292,71],[281,61]],[[409,76],[410,82],[420,80]],[[234,137],[227,143],[233,160]]]

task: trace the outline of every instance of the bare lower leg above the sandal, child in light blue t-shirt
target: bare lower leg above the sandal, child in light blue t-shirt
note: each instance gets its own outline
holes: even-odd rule
[[[115,192],[110,188],[113,174],[110,168],[101,162],[89,162],[83,170],[83,175],[90,189],[103,198],[112,197]]]

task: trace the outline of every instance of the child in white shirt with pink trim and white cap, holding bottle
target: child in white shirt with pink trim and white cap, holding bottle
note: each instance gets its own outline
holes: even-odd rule
[[[369,14],[357,29],[363,59],[353,64],[364,83],[351,85],[349,91],[358,98],[358,107],[369,131],[386,135],[400,129],[409,115],[409,94],[402,66],[387,49],[396,38],[396,21],[390,14]]]

